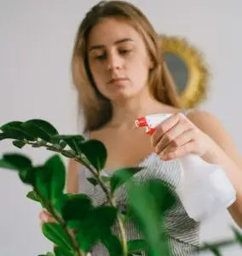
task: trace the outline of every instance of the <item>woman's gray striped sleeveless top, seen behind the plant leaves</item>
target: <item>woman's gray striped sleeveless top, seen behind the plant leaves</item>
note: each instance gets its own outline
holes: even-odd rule
[[[88,139],[88,133],[85,134]],[[149,154],[144,160],[141,160],[138,166],[143,169],[135,174],[135,178],[146,181],[150,178],[158,178],[170,183],[176,195],[176,186],[179,183],[181,175],[181,167],[178,160],[162,161],[157,154]],[[109,175],[105,170],[102,175]],[[102,192],[100,186],[93,186],[87,177],[91,177],[91,173],[84,166],[79,171],[79,193],[89,195],[95,205],[101,205],[106,201],[106,195]],[[177,197],[177,195],[176,195]],[[116,192],[116,200],[120,209],[125,207],[127,195],[123,187]],[[187,212],[182,206],[181,201],[177,197],[176,206],[171,208],[165,215],[165,226],[169,235],[169,243],[172,255],[187,256],[194,255],[199,247],[199,227],[200,224],[187,216]],[[126,236],[128,240],[141,239],[141,233],[135,228],[135,224],[128,220],[124,224]],[[114,226],[114,233],[118,228]],[[106,247],[101,244],[95,245],[91,251],[92,256],[108,256]],[[146,254],[143,253],[143,256]]]

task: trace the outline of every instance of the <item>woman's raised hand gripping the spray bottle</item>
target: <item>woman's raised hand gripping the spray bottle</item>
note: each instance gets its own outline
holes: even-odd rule
[[[162,160],[172,160],[189,153],[203,156],[215,146],[213,140],[182,113],[176,113],[156,127],[151,137]]]

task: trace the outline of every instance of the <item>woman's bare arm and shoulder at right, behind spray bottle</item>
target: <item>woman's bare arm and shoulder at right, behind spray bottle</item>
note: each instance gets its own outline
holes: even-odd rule
[[[221,165],[237,192],[237,200],[228,208],[234,221],[242,228],[242,157],[235,148],[232,138],[221,123],[211,114],[191,111],[187,114],[194,125],[205,132],[214,143],[203,159],[211,164]]]

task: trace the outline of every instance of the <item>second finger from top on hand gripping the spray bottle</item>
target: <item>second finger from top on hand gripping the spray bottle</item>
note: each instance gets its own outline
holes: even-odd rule
[[[191,132],[186,125],[178,123],[178,125],[171,128],[170,131],[164,133],[164,135],[160,138],[155,148],[156,153],[160,154],[164,148],[168,146],[177,147],[187,143],[187,140],[190,140],[190,137],[192,136],[190,133]]]

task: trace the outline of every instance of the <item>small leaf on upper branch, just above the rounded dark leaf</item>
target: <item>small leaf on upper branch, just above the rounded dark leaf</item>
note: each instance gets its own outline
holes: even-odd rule
[[[84,137],[81,135],[57,135],[52,137],[52,140],[54,142],[66,143],[76,154],[81,154],[80,144],[84,142]]]

